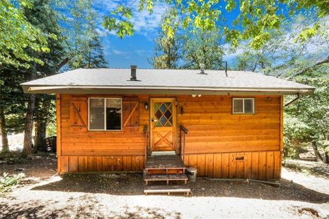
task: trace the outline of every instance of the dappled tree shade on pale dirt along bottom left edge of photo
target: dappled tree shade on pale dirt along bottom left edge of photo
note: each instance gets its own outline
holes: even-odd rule
[[[180,218],[180,213],[160,208],[125,206],[120,213],[102,208],[97,198],[91,194],[69,198],[62,209],[54,209],[56,201],[40,203],[27,201],[19,205],[0,202],[0,218]],[[102,211],[104,209],[104,211]]]

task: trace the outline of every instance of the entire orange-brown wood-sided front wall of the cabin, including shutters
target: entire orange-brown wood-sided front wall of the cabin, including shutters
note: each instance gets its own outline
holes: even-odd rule
[[[88,131],[91,96],[123,99],[122,131]],[[143,127],[149,126],[144,103],[152,97],[176,99],[176,151],[180,152],[179,127],[184,125],[189,129],[184,164],[197,167],[199,176],[280,178],[281,96],[251,96],[255,97],[254,114],[232,114],[232,96],[58,94],[58,171],[142,171]]]

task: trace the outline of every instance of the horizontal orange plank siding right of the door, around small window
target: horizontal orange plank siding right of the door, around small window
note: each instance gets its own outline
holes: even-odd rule
[[[186,154],[280,150],[280,103],[256,96],[255,114],[232,114],[232,96],[178,96]]]

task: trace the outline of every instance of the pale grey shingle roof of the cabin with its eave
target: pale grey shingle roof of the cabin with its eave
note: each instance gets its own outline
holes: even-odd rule
[[[217,90],[217,91],[276,91],[307,93],[314,90],[293,81],[265,76],[260,73],[228,70],[141,69],[136,70],[138,81],[130,81],[130,68],[76,69],[34,81],[22,83],[26,92],[32,90],[66,89],[133,89],[133,90]],[[42,87],[42,88],[41,88]],[[47,87],[47,88],[45,88]],[[50,89],[50,90],[51,90]],[[56,90],[56,89],[55,89]]]

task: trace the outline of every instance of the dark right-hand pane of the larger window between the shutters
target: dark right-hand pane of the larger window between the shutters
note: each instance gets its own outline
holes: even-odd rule
[[[121,99],[106,99],[106,130],[121,130]]]

